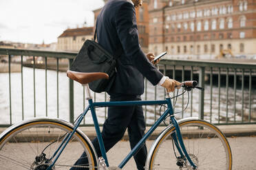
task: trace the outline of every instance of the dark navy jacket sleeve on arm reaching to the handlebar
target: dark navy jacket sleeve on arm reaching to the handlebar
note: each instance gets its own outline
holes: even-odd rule
[[[132,64],[142,73],[143,76],[156,85],[162,78],[162,73],[156,69],[142,49],[138,40],[138,29],[134,6],[126,2],[122,4],[115,17],[116,31],[118,38],[125,51],[125,56],[130,58]]]

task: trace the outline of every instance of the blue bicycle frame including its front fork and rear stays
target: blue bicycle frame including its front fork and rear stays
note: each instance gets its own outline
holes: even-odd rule
[[[183,143],[183,140],[182,140],[182,136],[181,136],[181,133],[180,133],[180,127],[179,127],[175,117],[173,116],[173,107],[172,107],[172,104],[171,104],[171,99],[169,97],[169,94],[167,94],[167,98],[165,100],[158,100],[158,101],[107,101],[107,102],[93,102],[92,99],[88,99],[88,101],[89,101],[89,106],[87,106],[87,108],[85,109],[85,111],[83,112],[81,117],[79,117],[79,119],[78,119],[78,121],[77,121],[77,123],[76,123],[76,125],[74,127],[73,132],[71,134],[67,134],[67,136],[65,136],[65,138],[64,138],[63,142],[61,143],[61,145],[55,151],[55,153],[52,156],[52,158],[50,158],[50,160],[52,160],[56,156],[56,158],[54,158],[54,160],[52,161],[52,165],[50,165],[50,167],[48,167],[47,170],[52,169],[52,167],[56,163],[56,160],[58,160],[58,157],[61,155],[62,151],[65,149],[65,146],[70,141],[70,138],[73,136],[73,134],[76,132],[76,129],[78,128],[80,123],[83,121],[83,118],[87,114],[88,110],[91,110],[91,112],[92,112],[92,119],[94,121],[94,126],[95,126],[95,130],[96,130],[97,138],[98,138],[98,143],[100,145],[100,151],[102,153],[103,158],[105,159],[105,163],[106,163],[107,167],[109,167],[109,162],[107,160],[107,154],[106,154],[105,147],[104,147],[104,144],[103,144],[103,138],[102,138],[102,136],[100,134],[100,127],[98,125],[98,119],[96,117],[96,112],[95,112],[94,107],[134,106],[134,105],[146,106],[146,105],[161,105],[161,104],[167,104],[167,106],[168,106],[167,110],[165,110],[164,114],[161,115],[161,117],[158,119],[158,121],[156,121],[156,123],[153,124],[153,126],[150,128],[150,130],[140,139],[140,141],[137,143],[137,145],[134,147],[134,149],[132,149],[131,152],[125,157],[125,159],[122,160],[120,165],[118,165],[118,168],[122,169],[122,167],[125,166],[125,164],[129,161],[129,159],[132,156],[134,156],[134,154],[136,154],[136,151],[140,148],[142,143],[145,143],[145,141],[147,140],[147,138],[149,138],[149,136],[152,134],[152,132],[154,130],[156,130],[156,127],[158,127],[158,125],[160,125],[160,123],[168,115],[171,117],[171,123],[173,124],[173,126],[175,127],[175,130],[176,130],[176,133],[172,134],[173,141],[175,142],[175,147],[177,147],[180,156],[182,158],[186,158],[189,161],[189,163],[193,167],[193,169],[197,168],[197,166],[195,166],[195,164],[192,162],[191,158],[189,157],[189,154],[187,153],[186,148],[184,146],[184,143]]]

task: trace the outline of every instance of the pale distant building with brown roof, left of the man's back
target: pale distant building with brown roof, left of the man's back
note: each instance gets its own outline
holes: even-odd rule
[[[56,49],[58,51],[79,51],[85,40],[93,39],[94,27],[81,27],[66,29],[61,36],[58,36]]]

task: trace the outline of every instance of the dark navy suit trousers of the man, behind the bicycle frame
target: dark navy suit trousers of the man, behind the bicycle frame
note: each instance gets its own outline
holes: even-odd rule
[[[111,96],[110,101],[135,101],[141,100],[140,96]],[[103,143],[106,151],[109,151],[128,131],[131,149],[140,141],[145,134],[145,117],[143,115],[142,106],[111,106],[108,108],[107,119],[103,124]],[[98,157],[102,156],[98,139],[92,141],[96,149]],[[118,156],[118,154],[116,154]],[[142,147],[134,155],[134,160],[138,170],[143,170],[147,159],[147,147],[143,143]],[[75,165],[85,165],[87,163],[86,155],[83,153]],[[82,170],[81,168],[72,168],[72,170]],[[84,170],[84,169],[83,169]]]

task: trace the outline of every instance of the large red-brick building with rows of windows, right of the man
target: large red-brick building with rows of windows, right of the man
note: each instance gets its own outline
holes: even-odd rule
[[[256,55],[254,0],[149,0],[149,51],[169,58]]]

